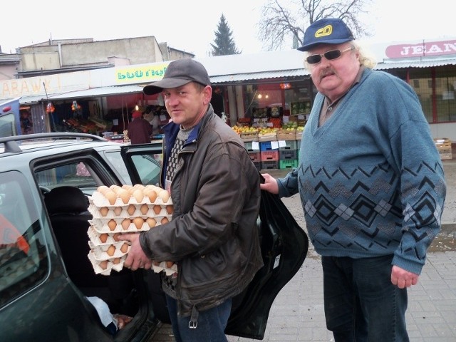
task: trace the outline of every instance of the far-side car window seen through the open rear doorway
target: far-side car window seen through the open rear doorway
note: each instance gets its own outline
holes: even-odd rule
[[[42,190],[68,185],[81,190],[95,190],[97,182],[85,162],[75,161],[36,172],[38,185]]]

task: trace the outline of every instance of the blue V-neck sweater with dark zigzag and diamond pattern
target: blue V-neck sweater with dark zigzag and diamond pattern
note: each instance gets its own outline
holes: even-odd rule
[[[279,195],[299,192],[318,254],[394,254],[393,264],[420,274],[446,185],[417,95],[399,78],[366,69],[318,127],[322,104],[318,93],[299,167],[279,179]]]

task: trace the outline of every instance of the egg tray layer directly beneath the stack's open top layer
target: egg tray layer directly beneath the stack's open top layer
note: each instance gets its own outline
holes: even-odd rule
[[[132,206],[134,207],[134,210]],[[144,207],[145,206],[145,207]],[[157,217],[157,216],[170,216],[172,215],[172,208],[167,206],[172,206],[172,204],[125,204],[120,207],[101,207],[98,208],[95,204],[90,204],[88,211],[92,214],[95,219],[115,219],[115,218],[125,218],[130,217]],[[108,209],[108,212],[103,216],[103,208]],[[168,210],[170,209],[170,210]]]

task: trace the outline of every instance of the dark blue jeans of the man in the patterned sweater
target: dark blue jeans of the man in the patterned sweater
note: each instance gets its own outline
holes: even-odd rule
[[[321,257],[326,327],[334,341],[409,341],[407,289],[391,283],[392,260]]]

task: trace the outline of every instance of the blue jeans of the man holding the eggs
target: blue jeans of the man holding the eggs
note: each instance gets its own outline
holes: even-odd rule
[[[197,327],[189,328],[190,316],[177,316],[177,301],[166,295],[172,332],[176,342],[227,342],[225,328],[231,313],[231,299],[206,311],[199,311]]]

